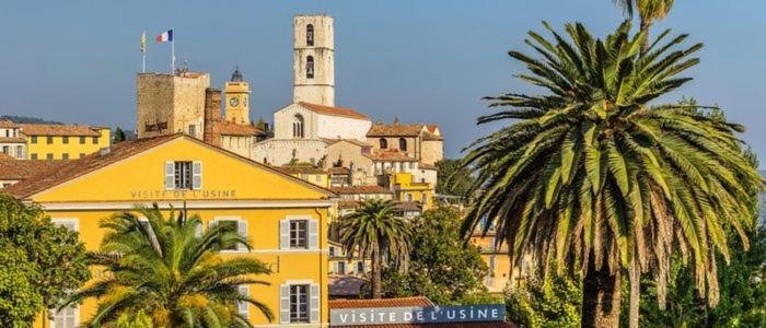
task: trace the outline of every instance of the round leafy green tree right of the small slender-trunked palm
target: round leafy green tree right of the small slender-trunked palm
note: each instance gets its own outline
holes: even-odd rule
[[[489,273],[476,246],[460,238],[460,213],[450,207],[427,211],[414,223],[407,272],[383,272],[386,297],[423,295],[439,305],[465,304],[487,293]]]

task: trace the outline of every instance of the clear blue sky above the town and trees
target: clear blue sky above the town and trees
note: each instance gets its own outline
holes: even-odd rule
[[[719,104],[748,129],[766,156],[766,1],[678,0],[654,27],[705,43],[695,78],[666,97]],[[0,5],[0,114],[132,128],[139,36],[173,27],[178,61],[209,71],[221,86],[236,65],[253,89],[253,119],[271,119],[292,97],[292,15],[335,16],[337,105],[373,120],[438,124],[446,153],[494,127],[480,98],[534,92],[511,74],[507,56],[527,30],[583,22],[604,35],[622,20],[611,0],[536,1],[9,1]],[[170,48],[150,42],[148,69],[165,71]],[[763,160],[762,162],[766,162]],[[765,165],[761,165],[764,167]]]

